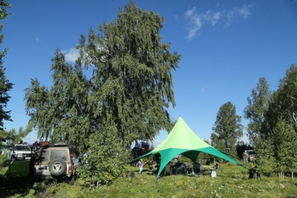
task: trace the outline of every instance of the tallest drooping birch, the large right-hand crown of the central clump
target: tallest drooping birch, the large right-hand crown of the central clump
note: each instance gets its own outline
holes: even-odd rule
[[[128,3],[113,22],[90,29],[78,49],[85,66],[94,66],[94,115],[111,113],[118,136],[130,148],[137,139],[152,140],[160,129],[170,130],[167,109],[175,106],[172,69],[180,55],[162,43],[163,17]],[[102,119],[98,119],[102,120]]]

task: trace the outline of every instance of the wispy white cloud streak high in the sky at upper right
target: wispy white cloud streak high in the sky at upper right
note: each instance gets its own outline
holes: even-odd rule
[[[207,10],[205,13],[198,13],[196,8],[189,8],[186,10],[185,18],[188,20],[188,35],[186,38],[192,39],[197,36],[198,31],[205,25],[210,24],[215,26],[219,22],[226,21],[227,25],[232,24],[234,21],[240,20],[240,18],[248,18],[251,15],[252,5],[243,5],[241,7],[235,7],[230,10],[212,11]]]

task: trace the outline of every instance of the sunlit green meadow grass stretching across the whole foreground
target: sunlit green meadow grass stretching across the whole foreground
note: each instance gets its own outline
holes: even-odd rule
[[[21,167],[21,165],[15,167]],[[297,197],[297,179],[249,179],[246,169],[234,164],[221,164],[216,178],[203,176],[156,176],[137,174],[137,167],[128,167],[136,178],[118,178],[108,186],[84,188],[83,181],[67,183],[34,183],[31,176],[17,174],[11,167],[0,171],[2,197]],[[20,171],[20,170],[19,170]],[[10,172],[10,174],[8,174]],[[27,172],[28,173],[28,172]],[[9,176],[9,177],[8,177]],[[27,181],[24,183],[24,181]],[[18,185],[15,183],[18,182]],[[20,188],[18,186],[25,185]],[[3,189],[4,188],[4,189]],[[4,191],[3,191],[4,190]]]

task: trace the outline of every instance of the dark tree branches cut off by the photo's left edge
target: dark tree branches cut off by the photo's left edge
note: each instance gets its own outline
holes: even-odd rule
[[[1,0],[0,1],[0,20],[6,20],[10,13],[7,12],[7,8],[11,8],[11,4]],[[2,34],[3,24],[0,22],[0,46],[2,45],[4,34]],[[6,111],[6,107],[9,99],[11,98],[8,95],[8,92],[13,88],[13,83],[10,83],[5,76],[5,68],[3,66],[4,56],[6,55],[7,49],[5,48],[0,52],[0,130],[4,129],[4,120],[11,120],[11,111]]]

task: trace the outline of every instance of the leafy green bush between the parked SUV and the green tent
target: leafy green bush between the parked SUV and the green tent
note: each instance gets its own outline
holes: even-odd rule
[[[119,142],[116,125],[111,120],[103,122],[97,133],[90,136],[90,149],[79,171],[84,185],[106,185],[125,174],[130,154]]]

